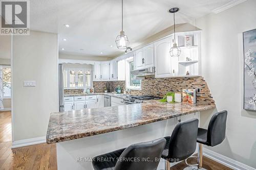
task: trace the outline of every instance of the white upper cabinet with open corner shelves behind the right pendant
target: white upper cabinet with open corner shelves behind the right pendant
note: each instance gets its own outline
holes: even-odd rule
[[[154,43],[156,78],[191,77],[201,75],[200,31],[176,33],[176,43],[181,49],[179,57],[170,57],[174,35]]]

